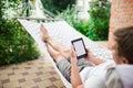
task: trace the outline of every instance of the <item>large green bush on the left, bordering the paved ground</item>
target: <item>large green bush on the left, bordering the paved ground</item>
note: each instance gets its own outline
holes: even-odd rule
[[[3,18],[6,10],[0,8],[0,66],[38,58],[33,38],[17,20]]]

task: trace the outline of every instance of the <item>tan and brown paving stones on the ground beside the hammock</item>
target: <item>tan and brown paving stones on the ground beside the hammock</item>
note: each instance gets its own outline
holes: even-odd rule
[[[64,88],[59,75],[44,57],[0,67],[0,88]]]

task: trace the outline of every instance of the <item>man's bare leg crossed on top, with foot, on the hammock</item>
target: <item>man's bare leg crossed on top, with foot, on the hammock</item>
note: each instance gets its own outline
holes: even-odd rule
[[[43,24],[41,24],[40,30],[43,33],[43,38],[42,40],[44,42],[50,44],[55,51],[60,52],[64,56],[64,58],[70,57],[70,50],[66,48],[66,46],[63,46],[59,42],[54,41],[52,37],[50,37],[50,35],[49,35],[48,31],[45,30],[45,28],[43,26]]]

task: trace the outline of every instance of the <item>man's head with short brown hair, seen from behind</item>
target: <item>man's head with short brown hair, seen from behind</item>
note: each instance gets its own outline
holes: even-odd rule
[[[113,33],[113,56],[116,64],[133,64],[133,26]]]

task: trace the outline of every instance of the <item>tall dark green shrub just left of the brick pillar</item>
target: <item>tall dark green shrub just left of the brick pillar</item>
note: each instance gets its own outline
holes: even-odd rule
[[[94,41],[108,40],[111,3],[106,0],[95,0],[91,4],[89,21],[89,37]]]

